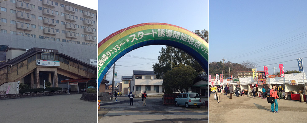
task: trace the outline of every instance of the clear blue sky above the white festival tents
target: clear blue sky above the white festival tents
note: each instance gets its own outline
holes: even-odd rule
[[[284,64],[285,71],[298,70],[294,59],[304,57],[307,71],[306,5],[304,0],[211,0],[209,61],[250,61],[258,63],[259,71],[273,64],[268,66],[273,74],[278,64]]]

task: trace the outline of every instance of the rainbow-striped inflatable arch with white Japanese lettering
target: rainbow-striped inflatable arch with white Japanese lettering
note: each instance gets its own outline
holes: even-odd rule
[[[198,35],[167,23],[142,23],[119,30],[98,45],[98,87],[104,75],[128,52],[149,45],[173,46],[185,51],[208,73],[209,45]]]

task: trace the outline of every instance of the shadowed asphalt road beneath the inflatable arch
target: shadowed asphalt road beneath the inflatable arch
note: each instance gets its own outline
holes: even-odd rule
[[[129,98],[118,97],[119,102],[100,104],[99,123],[206,123],[208,107],[162,105],[162,97],[147,97],[146,106],[141,98],[134,98],[130,106]]]

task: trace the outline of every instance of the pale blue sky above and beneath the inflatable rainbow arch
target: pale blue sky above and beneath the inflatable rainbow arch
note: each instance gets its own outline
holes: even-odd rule
[[[190,31],[209,29],[208,0],[99,1],[98,14],[99,42],[118,30],[146,22],[169,23]],[[121,76],[132,76],[133,70],[153,70],[152,65],[158,62],[161,47],[161,45],[145,46],[120,58],[116,65],[121,66],[115,66],[115,71],[118,72],[115,80],[121,80]],[[143,59],[128,55],[143,57]],[[107,80],[112,80],[111,73],[107,74]]]

